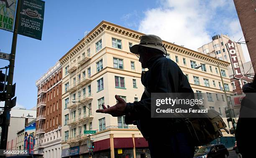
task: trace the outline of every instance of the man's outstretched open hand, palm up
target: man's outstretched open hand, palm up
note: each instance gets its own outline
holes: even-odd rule
[[[108,105],[108,108],[102,104],[103,109],[98,109],[96,110],[96,112],[110,114],[114,117],[125,115],[126,102],[122,98],[120,98],[118,95],[115,95],[115,99],[118,101],[118,104],[115,104],[114,106],[111,106],[111,107]]]

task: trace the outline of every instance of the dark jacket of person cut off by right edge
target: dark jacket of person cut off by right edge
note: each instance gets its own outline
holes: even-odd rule
[[[236,125],[236,141],[239,152],[254,152],[251,150],[256,143],[254,124],[256,122],[256,89],[252,83],[243,85],[246,96],[241,101],[241,109]]]

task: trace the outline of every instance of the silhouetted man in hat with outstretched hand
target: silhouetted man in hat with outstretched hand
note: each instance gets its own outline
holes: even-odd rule
[[[179,66],[167,59],[166,49],[160,37],[141,36],[140,44],[130,51],[139,57],[142,68],[141,83],[145,91],[141,101],[126,103],[115,95],[114,106],[102,105],[96,112],[124,116],[126,124],[136,124],[148,141],[151,158],[193,158],[194,146],[187,128],[180,118],[151,118],[151,93],[193,93],[187,77]]]

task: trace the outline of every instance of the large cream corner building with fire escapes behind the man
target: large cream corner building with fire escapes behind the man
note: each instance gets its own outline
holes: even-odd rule
[[[124,123],[124,116],[112,117],[95,112],[102,108],[101,104],[115,105],[115,94],[127,102],[141,99],[144,87],[140,77],[144,69],[141,68],[138,57],[129,49],[133,44],[139,43],[141,35],[144,34],[102,21],[59,60],[63,72],[61,157],[89,157],[90,140],[84,131],[96,131],[91,136],[95,146],[94,158],[136,158],[141,153],[150,157],[147,141],[136,126]],[[213,93],[223,93],[218,87],[219,72],[210,72],[208,65],[207,71],[194,69],[201,62],[215,64],[216,67],[219,64],[227,73],[224,77],[226,88],[230,86],[228,62],[163,42],[168,52],[167,57],[179,64],[195,92],[208,92],[212,95],[211,99],[215,97]],[[215,71],[215,67],[213,70]],[[195,77],[196,83],[193,79]],[[212,81],[217,84],[214,86]],[[211,104],[212,101],[209,101],[207,106]],[[220,108],[225,117],[223,107],[212,106],[217,111]],[[157,131],[154,125],[152,130]],[[224,135],[231,137],[227,133]]]

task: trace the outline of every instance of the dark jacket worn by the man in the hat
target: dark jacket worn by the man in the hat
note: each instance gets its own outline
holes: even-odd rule
[[[157,55],[148,60],[147,66],[148,71],[141,73],[141,83],[149,93],[193,93],[187,77],[171,59]],[[183,124],[178,118],[151,118],[151,98],[145,92],[141,101],[127,103],[125,123],[131,121],[135,121],[146,139],[156,133],[171,133]]]

